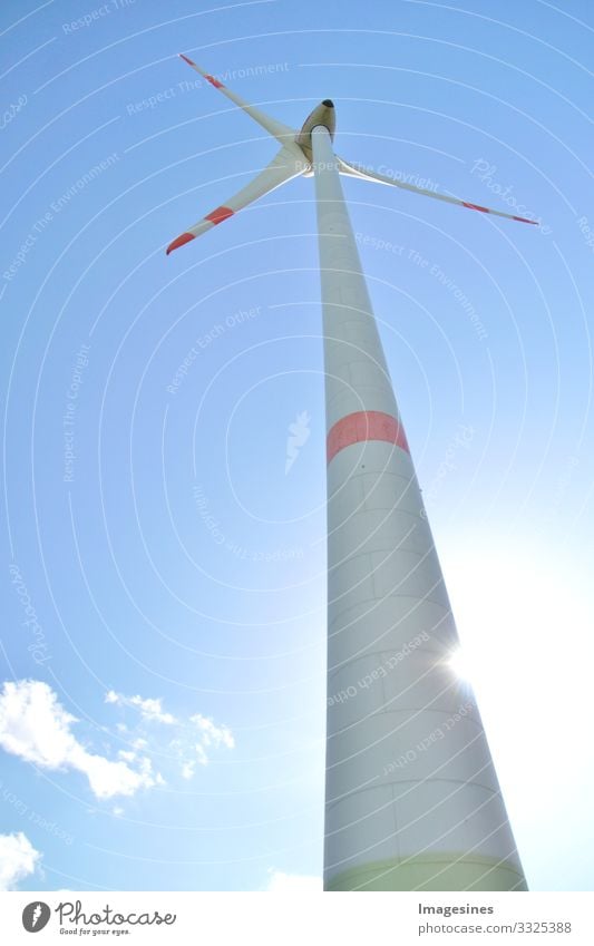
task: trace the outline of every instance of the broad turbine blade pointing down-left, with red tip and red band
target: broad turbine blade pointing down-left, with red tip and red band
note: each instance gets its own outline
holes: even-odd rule
[[[230,197],[230,199],[225,201],[225,203],[220,207],[211,211],[210,214],[206,214],[206,216],[194,224],[194,226],[191,226],[185,233],[182,233],[177,240],[169,243],[167,246],[167,255],[169,255],[173,250],[177,250],[178,246],[183,246],[184,243],[188,243],[196,236],[201,236],[203,233],[206,233],[207,230],[216,226],[216,224],[228,220],[228,217],[236,214],[237,211],[242,211],[249,204],[253,204],[254,201],[257,201],[259,197],[263,197],[264,194],[270,194],[271,191],[280,187],[281,184],[285,184],[293,177],[298,177],[300,174],[303,174],[308,170],[308,167],[309,165],[303,157],[301,149],[296,145],[293,145],[292,148],[282,147],[264,170],[254,177],[250,184],[246,184],[246,186],[234,194],[233,197]]]

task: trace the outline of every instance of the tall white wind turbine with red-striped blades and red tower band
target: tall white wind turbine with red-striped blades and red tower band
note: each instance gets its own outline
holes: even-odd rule
[[[526,890],[339,175],[535,223],[350,164],[324,99],[300,131],[182,56],[280,143],[261,174],[167,247],[296,176],[315,178],[328,459],[327,890]]]

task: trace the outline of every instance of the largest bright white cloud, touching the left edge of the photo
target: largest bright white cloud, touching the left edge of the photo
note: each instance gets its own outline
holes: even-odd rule
[[[89,752],[70,731],[76,722],[47,683],[4,683],[0,694],[0,747],[7,752],[46,769],[82,772],[97,798],[132,796],[160,779],[153,773],[149,759],[139,760],[139,768],[132,769],[124,761],[111,762]]]

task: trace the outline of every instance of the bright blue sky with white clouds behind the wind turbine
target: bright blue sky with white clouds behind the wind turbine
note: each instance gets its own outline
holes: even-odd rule
[[[593,28],[585,0],[2,4],[4,886],[321,876],[313,184],[165,256],[275,153],[184,51],[542,222],[344,182],[528,882],[592,888]]]

